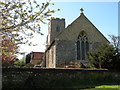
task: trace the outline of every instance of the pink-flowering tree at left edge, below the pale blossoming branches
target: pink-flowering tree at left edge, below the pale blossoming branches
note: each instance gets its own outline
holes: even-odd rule
[[[5,38],[1,41],[2,47],[2,66],[3,67],[13,67],[14,61],[17,61],[18,46],[14,43],[12,38]]]

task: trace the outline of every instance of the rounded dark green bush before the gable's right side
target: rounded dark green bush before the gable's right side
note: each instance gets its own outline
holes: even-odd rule
[[[114,55],[115,50],[112,45],[101,45],[98,49],[89,52],[88,59],[90,67],[112,68],[114,62]]]

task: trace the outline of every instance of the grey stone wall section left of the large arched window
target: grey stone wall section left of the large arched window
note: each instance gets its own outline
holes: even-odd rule
[[[60,40],[56,42],[56,63],[63,66],[69,61],[76,60],[75,42],[72,40]]]

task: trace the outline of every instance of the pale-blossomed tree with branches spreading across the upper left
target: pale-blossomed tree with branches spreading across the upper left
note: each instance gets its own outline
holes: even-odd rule
[[[33,33],[37,32],[43,35],[40,31],[40,23],[46,23],[45,21],[51,17],[52,13],[59,11],[59,9],[50,10],[49,5],[54,4],[50,1],[40,4],[36,0],[0,1],[0,35],[3,39],[1,41],[4,42],[7,37],[17,46],[19,44],[33,45],[29,41],[33,38]],[[2,45],[0,48],[4,48],[2,53],[5,55],[9,56],[10,53],[15,53],[14,50],[6,53],[8,48],[5,47]]]

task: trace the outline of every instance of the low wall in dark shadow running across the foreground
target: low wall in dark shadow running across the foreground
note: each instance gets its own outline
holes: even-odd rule
[[[3,88],[91,88],[120,85],[120,72],[89,69],[3,68]]]

